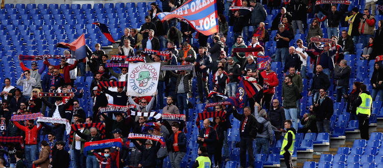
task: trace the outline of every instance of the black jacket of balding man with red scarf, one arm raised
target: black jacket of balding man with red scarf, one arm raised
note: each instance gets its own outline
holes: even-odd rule
[[[257,120],[253,115],[248,116],[247,124],[245,126],[244,132],[242,132],[242,125],[244,124],[246,116],[244,114],[238,114],[237,110],[233,110],[233,117],[241,121],[240,124],[240,136],[242,137],[251,137],[255,138],[257,136]]]

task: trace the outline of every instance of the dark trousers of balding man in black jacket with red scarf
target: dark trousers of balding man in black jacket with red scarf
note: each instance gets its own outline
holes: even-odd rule
[[[254,151],[253,151],[253,138],[242,137],[240,141],[240,161],[241,166],[246,167],[246,151],[249,157],[249,165],[254,167]]]

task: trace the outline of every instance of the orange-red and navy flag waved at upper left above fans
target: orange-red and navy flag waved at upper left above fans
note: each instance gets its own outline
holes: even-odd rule
[[[70,44],[60,42],[56,45],[56,47],[68,47],[72,51],[72,55],[76,60],[81,60],[87,55],[84,34],[82,34],[78,39],[76,39],[74,42],[71,42]]]

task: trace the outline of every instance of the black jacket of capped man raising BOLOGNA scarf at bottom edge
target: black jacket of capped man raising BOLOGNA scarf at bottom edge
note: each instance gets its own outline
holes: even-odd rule
[[[155,167],[156,166],[155,158],[157,158],[157,152],[161,148],[161,143],[157,143],[157,145],[152,146],[149,149],[146,149],[145,147],[139,146],[139,144],[136,141],[132,141],[132,142],[134,146],[136,146],[140,151],[142,151],[142,160],[141,160],[142,167]]]

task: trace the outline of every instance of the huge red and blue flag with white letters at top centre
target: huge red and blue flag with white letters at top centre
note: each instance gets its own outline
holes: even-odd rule
[[[166,19],[185,19],[195,30],[209,36],[218,32],[216,0],[189,0],[173,12],[158,13],[163,22]]]

